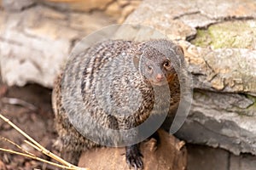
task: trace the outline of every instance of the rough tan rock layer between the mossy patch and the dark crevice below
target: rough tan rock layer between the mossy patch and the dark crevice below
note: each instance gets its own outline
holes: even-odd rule
[[[195,88],[229,93],[256,94],[256,50],[246,48],[197,48],[203,60],[200,68],[190,60],[189,70],[196,76]]]

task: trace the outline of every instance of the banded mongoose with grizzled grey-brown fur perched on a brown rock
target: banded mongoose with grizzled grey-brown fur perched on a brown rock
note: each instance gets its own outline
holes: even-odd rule
[[[169,115],[173,116],[173,108],[177,108],[180,100],[177,68],[175,69],[173,65],[179,65],[179,62],[183,62],[182,48],[164,39],[147,42],[107,40],[76,54],[73,60],[67,63],[64,69],[66,71],[62,71],[56,77],[53,90],[55,127],[59,134],[55,145],[61,150],[62,156],[67,161],[78,163],[82,150],[101,146],[84,135],[86,131],[86,134],[91,134],[97,141],[103,140],[100,132],[90,129],[89,116],[94,122],[110,129],[130,129],[145,122],[154,107],[155,87],[169,88],[171,99],[168,110],[170,109]],[[76,71],[81,71],[80,76],[74,75]],[[63,87],[64,77],[68,79],[65,87]],[[102,84],[104,89],[97,92],[99,84]],[[108,88],[108,92],[104,91],[105,88]],[[132,89],[140,92],[142,97],[142,100],[136,101],[140,105],[135,110],[129,108],[133,104],[127,97],[129,93],[132,99],[137,95],[132,94]],[[67,92],[70,94],[65,95]],[[65,96],[69,95],[81,95],[84,106],[83,111],[74,111],[72,117],[67,114],[65,105],[71,110],[76,106],[72,102],[63,104]],[[137,99],[136,96],[134,99]],[[99,100],[105,102],[103,106]],[[119,111],[109,113],[115,107],[122,109],[127,105],[128,109],[124,109],[125,113],[122,116],[118,115]],[[81,124],[84,127],[81,128],[82,130],[77,130],[75,125]],[[127,145],[125,150],[128,165],[143,169],[143,156],[139,144]]]

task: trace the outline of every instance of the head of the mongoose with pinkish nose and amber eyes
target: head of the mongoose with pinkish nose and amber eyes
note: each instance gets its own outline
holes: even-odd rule
[[[175,47],[175,51],[183,54],[183,50],[179,46]],[[153,86],[166,85],[177,77],[172,59],[172,57],[160,53],[157,48],[146,46],[143,48],[139,61],[140,73]]]

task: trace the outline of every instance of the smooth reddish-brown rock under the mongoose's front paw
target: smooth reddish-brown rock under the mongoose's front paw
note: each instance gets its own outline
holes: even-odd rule
[[[166,169],[184,170],[187,166],[187,151],[180,141],[163,130],[159,130],[160,144],[155,139],[143,142],[141,151],[145,170]],[[98,148],[82,154],[79,167],[90,167],[91,170],[127,169],[125,148]]]

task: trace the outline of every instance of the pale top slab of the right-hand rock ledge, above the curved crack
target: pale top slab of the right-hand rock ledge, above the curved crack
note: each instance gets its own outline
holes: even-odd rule
[[[156,4],[158,8],[155,8]],[[152,26],[171,39],[190,39],[195,37],[197,27],[207,27],[209,24],[232,17],[255,18],[254,11],[253,0],[237,0],[237,3],[228,0],[224,4],[220,0],[208,3],[201,0],[189,3],[186,0],[146,0],[125,20],[125,23]]]

